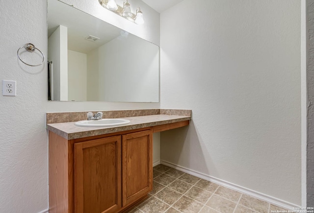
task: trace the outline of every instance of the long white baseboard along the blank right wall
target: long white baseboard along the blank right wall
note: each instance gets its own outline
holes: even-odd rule
[[[210,175],[207,175],[207,174],[204,174],[204,173],[201,173],[201,172],[198,172],[198,171],[194,171],[192,169],[189,169],[189,168],[186,168],[186,167],[183,167],[183,166],[178,166],[178,165],[172,164],[172,163],[167,162],[167,161],[160,160],[160,164],[163,164],[165,166],[169,166],[171,168],[178,169],[178,170],[183,171],[183,172],[185,172],[187,174],[194,175],[196,177],[208,180],[208,181],[213,182],[215,184],[219,184],[219,185],[222,185],[224,187],[227,187],[227,188],[230,188],[230,189],[234,189],[234,190],[239,191],[241,193],[245,193],[245,194],[251,195],[252,197],[256,197],[258,199],[261,199],[263,201],[266,201],[268,203],[274,204],[276,206],[279,206],[279,207],[282,207],[282,208],[285,208],[285,209],[288,209],[288,210],[293,210],[293,207],[296,207],[296,208],[300,208],[301,207],[301,206],[298,206],[296,204],[289,203],[287,201],[278,199],[276,197],[272,197],[270,195],[263,194],[261,192],[258,192],[258,191],[252,190],[252,189],[247,189],[245,187],[241,187],[241,186],[238,186],[236,184],[233,184],[233,183],[230,183],[230,182],[227,182],[227,181],[224,181],[224,180],[212,177]]]

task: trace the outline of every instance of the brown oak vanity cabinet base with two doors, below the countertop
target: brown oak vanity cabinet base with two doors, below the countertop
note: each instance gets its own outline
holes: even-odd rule
[[[50,213],[123,212],[153,189],[152,128],[116,134],[49,132]]]

